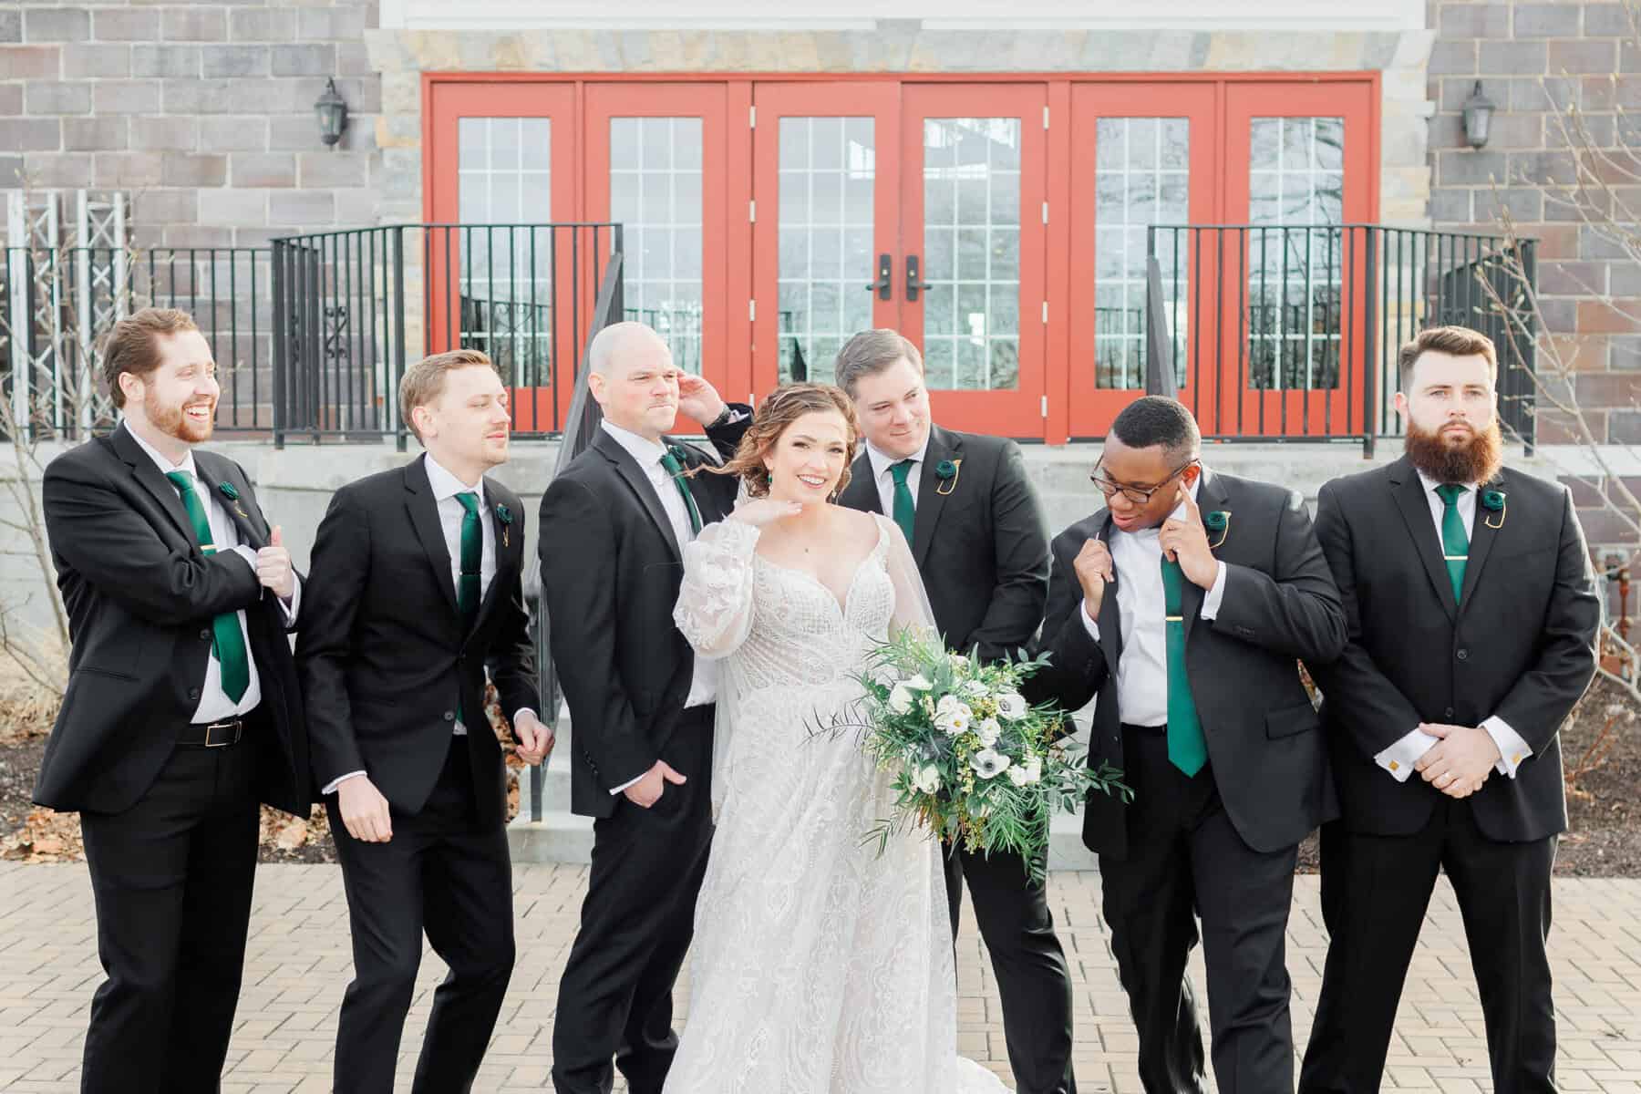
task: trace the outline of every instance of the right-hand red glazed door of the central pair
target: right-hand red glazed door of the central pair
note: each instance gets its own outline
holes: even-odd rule
[[[1042,85],[903,89],[901,333],[935,417],[1042,436]]]

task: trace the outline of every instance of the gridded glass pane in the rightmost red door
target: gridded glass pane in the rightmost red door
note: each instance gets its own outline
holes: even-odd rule
[[[1254,118],[1249,153],[1247,384],[1339,387],[1344,118]]]

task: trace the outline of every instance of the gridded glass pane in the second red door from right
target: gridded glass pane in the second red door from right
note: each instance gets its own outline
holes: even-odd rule
[[[1147,228],[1190,220],[1190,118],[1099,118],[1095,126],[1095,385],[1145,387]],[[1186,238],[1155,235],[1175,381],[1185,385]]]

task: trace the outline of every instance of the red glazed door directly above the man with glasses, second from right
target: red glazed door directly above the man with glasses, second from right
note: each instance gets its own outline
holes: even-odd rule
[[[1213,84],[1072,87],[1070,433],[1104,436],[1145,394],[1150,358],[1147,258],[1155,251],[1167,362],[1180,399],[1214,431],[1218,374],[1190,367],[1191,331],[1216,307],[1211,254],[1191,233],[1214,221],[1218,149]],[[1160,228],[1159,228],[1160,226]],[[1214,238],[1209,233],[1208,248]]]

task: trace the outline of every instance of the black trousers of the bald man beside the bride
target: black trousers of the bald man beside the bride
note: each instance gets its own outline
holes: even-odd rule
[[[625,797],[592,825],[581,928],[558,986],[553,1089],[660,1094],[678,1051],[673,982],[694,937],[712,840],[712,707],[693,707],[661,750],[683,786],[651,809]]]

